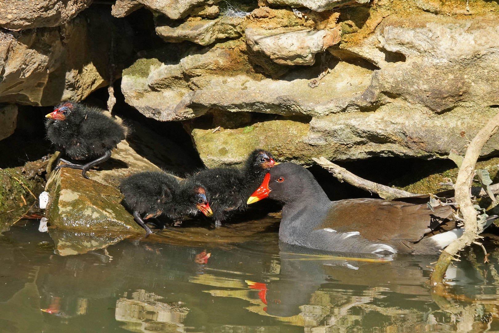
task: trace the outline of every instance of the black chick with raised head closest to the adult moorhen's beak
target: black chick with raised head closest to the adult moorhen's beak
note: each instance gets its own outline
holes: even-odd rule
[[[253,188],[275,164],[269,152],[255,149],[248,156],[243,169],[206,169],[191,178],[206,188],[216,227],[220,227],[222,221],[233,213],[247,207],[246,200]]]

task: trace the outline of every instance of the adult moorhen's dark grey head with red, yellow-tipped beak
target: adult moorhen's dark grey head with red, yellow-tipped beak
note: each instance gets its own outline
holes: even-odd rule
[[[265,175],[260,187],[248,199],[248,204],[266,197],[289,203],[312,198],[321,192],[310,171],[294,163],[281,163]]]

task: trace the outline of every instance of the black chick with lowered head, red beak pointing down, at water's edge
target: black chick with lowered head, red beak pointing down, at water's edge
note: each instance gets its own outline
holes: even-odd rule
[[[144,222],[146,219],[164,214],[175,220],[183,215],[195,215],[198,210],[207,216],[212,214],[202,187],[182,188],[177,178],[163,171],[133,174],[125,178],[119,188],[124,195],[125,207],[146,230],[146,237],[152,233]]]

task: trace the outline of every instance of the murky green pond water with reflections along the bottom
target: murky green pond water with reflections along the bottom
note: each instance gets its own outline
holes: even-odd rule
[[[499,331],[494,240],[490,264],[479,247],[462,253],[442,296],[427,283],[435,258],[314,253],[279,244],[276,228],[248,242],[124,240],[71,256],[37,228],[0,236],[1,333]]]

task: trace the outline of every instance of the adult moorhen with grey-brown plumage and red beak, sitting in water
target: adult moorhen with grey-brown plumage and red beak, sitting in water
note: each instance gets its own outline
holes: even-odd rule
[[[378,255],[436,255],[460,237],[463,229],[425,234],[453,209],[382,199],[330,201],[305,168],[282,163],[265,175],[248,204],[265,197],[283,203],[279,239],[288,244],[335,252]]]

